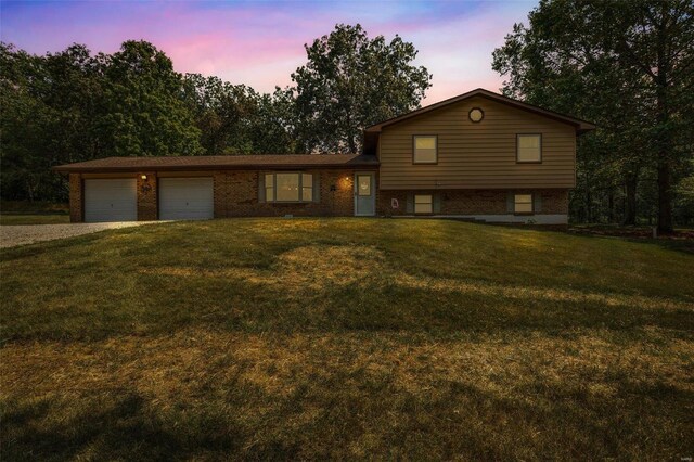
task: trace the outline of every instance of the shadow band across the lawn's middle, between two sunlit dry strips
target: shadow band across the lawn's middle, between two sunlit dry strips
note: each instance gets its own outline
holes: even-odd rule
[[[571,335],[576,331],[604,330],[634,336],[655,328],[680,338],[691,338],[694,332],[693,304],[657,297],[611,299],[619,294],[605,294],[605,300],[582,298],[580,294],[576,298],[548,299],[534,293],[512,294],[512,290],[480,293],[363,281],[323,290],[298,288],[290,294],[264,283],[204,279],[200,284],[181,284],[177,278],[144,283],[141,290],[142,294],[133,294],[139,303],[117,309],[63,305],[60,310],[46,311],[42,306],[33,305],[16,310],[16,320],[5,324],[2,337],[5,343],[95,341],[130,334],[167,335],[190,328],[243,333],[367,331],[436,335]],[[37,316],[41,323],[33,321]]]

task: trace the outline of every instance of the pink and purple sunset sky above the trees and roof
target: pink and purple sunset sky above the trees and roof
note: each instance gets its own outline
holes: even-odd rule
[[[497,91],[491,52],[537,1],[90,1],[0,3],[1,39],[31,53],[73,42],[112,53],[124,40],[164,50],[181,73],[216,75],[258,91],[292,84],[304,43],[336,23],[360,23],[370,37],[396,34],[434,75],[426,103],[483,87]]]

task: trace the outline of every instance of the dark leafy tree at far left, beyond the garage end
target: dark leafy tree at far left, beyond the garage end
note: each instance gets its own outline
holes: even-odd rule
[[[3,44],[0,55],[3,197],[64,198],[50,167],[99,153],[91,132],[101,95],[94,62],[80,44],[46,56]]]

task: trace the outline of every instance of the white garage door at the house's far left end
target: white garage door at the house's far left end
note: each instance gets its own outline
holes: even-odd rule
[[[134,178],[85,180],[85,221],[136,221]]]

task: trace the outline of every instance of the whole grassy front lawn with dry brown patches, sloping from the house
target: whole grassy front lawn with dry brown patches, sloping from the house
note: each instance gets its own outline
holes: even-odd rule
[[[437,220],[243,219],[0,252],[21,459],[694,455],[694,255]]]

